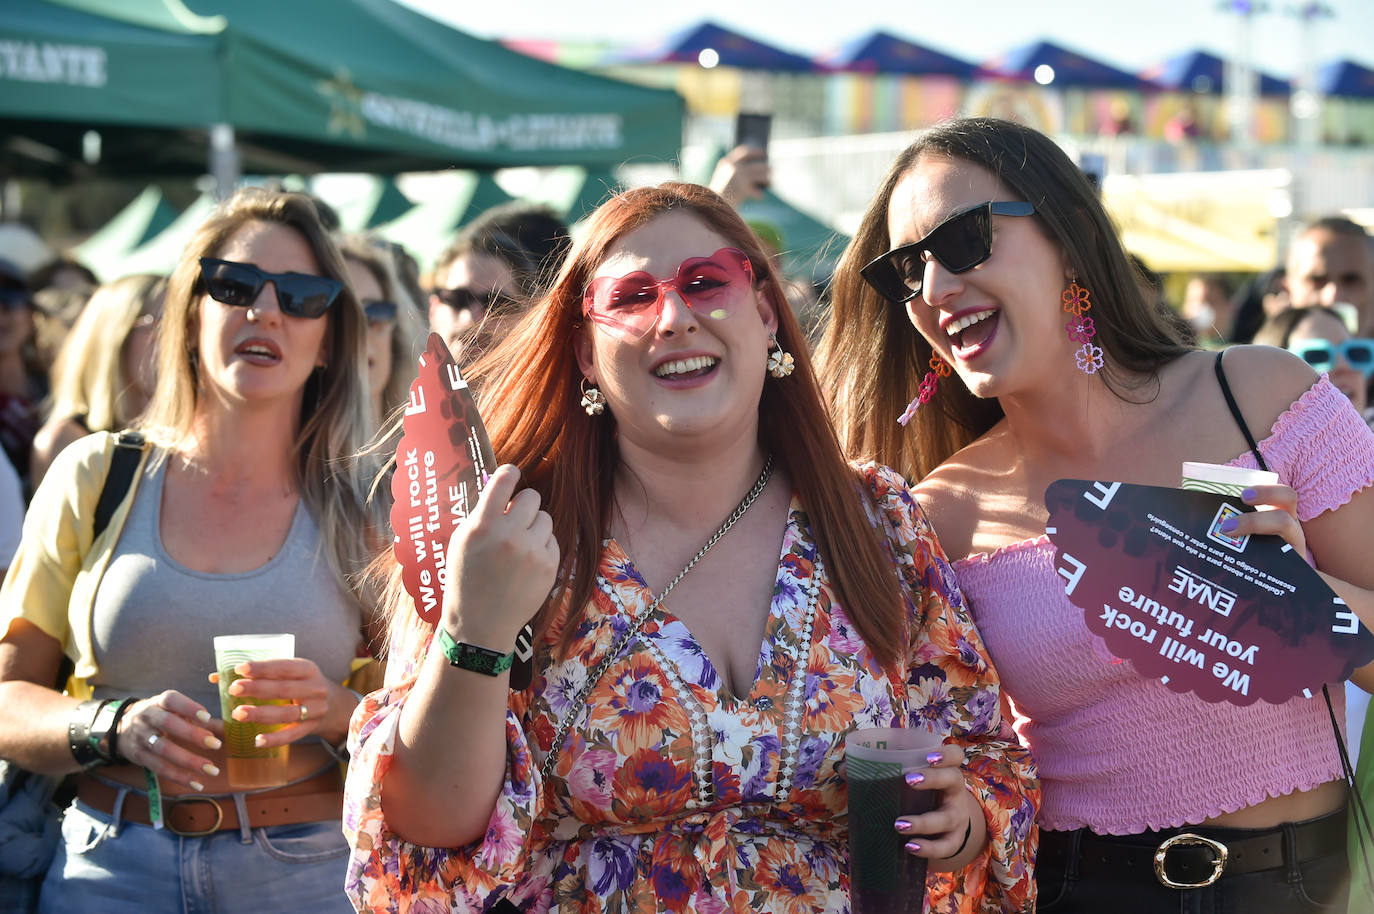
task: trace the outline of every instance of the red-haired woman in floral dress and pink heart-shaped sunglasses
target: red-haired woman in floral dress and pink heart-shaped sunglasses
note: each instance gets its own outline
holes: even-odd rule
[[[720,197],[610,199],[470,375],[508,465],[449,544],[437,625],[381,559],[359,910],[848,910],[837,764],[872,726],[945,741],[934,810],[886,826],[926,858],[930,910],[1030,909],[1039,790],[948,564],[899,476],[844,460]]]

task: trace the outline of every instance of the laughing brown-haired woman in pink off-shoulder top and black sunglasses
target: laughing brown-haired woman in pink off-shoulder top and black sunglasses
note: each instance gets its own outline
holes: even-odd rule
[[[1267,462],[1282,485],[1246,500],[1283,510],[1223,529],[1309,548],[1370,624],[1374,433],[1349,401],[1292,353],[1195,348],[1142,297],[1079,168],[995,118],[948,121],[899,155],[833,294],[820,360],[841,440],[918,481],[1040,766],[1037,910],[1344,906],[1325,702],[1210,704],[1113,662],[1065,595],[1044,492]]]

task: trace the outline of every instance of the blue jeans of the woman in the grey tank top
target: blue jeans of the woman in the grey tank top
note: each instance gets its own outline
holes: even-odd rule
[[[180,837],[74,801],[38,914],[352,914],[337,819]]]

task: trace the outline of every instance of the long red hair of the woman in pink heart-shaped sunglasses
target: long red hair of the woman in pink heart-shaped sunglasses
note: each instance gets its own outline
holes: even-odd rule
[[[496,455],[521,470],[523,484],[540,493],[563,548],[554,592],[536,617],[540,632],[561,631],[566,650],[596,587],[600,542],[610,529],[618,449],[610,414],[588,416],[578,405],[583,374],[574,339],[584,333],[583,290],[610,247],[625,234],[668,212],[686,212],[749,256],[754,283],[778,313],[778,342],[793,353],[794,371],[768,379],[758,403],[758,437],[796,485],[816,546],[838,599],[864,642],[882,664],[903,656],[904,616],[892,558],[870,522],[855,470],[845,462],[831,429],[805,337],[783,297],[774,267],[758,239],[713,191],[697,184],[665,183],[625,191],[588,220],[548,294],[511,333],[467,372],[480,392],[482,418]],[[532,408],[537,404],[537,408]],[[394,565],[390,554],[383,562]],[[390,597],[403,618],[393,621],[393,643],[415,614],[396,584]],[[554,618],[566,602],[567,618]],[[405,608],[401,612],[401,608]],[[536,635],[536,643],[540,640]]]

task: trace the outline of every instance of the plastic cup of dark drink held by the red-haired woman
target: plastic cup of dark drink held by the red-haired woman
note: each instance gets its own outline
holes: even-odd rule
[[[853,914],[921,914],[926,859],[907,852],[897,816],[936,807],[934,790],[907,786],[907,774],[929,768],[926,756],[944,739],[926,730],[871,727],[845,737],[849,783],[849,910]]]

